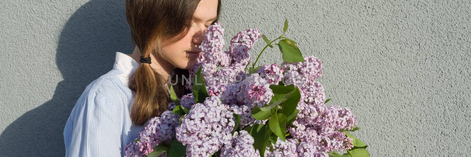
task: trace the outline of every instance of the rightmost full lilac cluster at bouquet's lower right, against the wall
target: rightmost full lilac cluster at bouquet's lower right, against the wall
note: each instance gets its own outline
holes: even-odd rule
[[[313,145],[319,152],[344,151],[353,147],[351,139],[338,131],[353,129],[356,119],[349,110],[313,103],[300,103],[298,109],[297,119],[288,128],[293,138]]]

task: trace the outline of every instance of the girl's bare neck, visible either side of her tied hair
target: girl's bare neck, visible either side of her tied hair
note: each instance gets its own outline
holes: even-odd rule
[[[141,51],[139,50],[138,46],[134,47],[134,51],[130,56],[140,64],[139,60],[141,59]],[[169,78],[169,76],[172,74],[174,66],[163,59],[157,59],[154,54],[151,54],[150,58],[152,62],[150,67],[154,69],[154,72],[161,74],[164,78]]]

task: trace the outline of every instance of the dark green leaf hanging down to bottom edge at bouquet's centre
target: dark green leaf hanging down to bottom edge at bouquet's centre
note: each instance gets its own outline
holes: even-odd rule
[[[253,137],[253,147],[258,149],[260,156],[265,156],[265,149],[267,148],[268,141],[272,132],[270,129],[261,124],[253,124],[250,128],[250,135]]]

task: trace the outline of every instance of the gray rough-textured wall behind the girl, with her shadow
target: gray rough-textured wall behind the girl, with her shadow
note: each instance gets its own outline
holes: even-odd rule
[[[289,19],[286,36],[323,61],[329,103],[353,110],[372,156],[471,155],[469,0],[223,3],[227,40],[249,27],[274,39]],[[81,92],[133,50],[123,0],[8,0],[0,15],[0,156],[63,156]]]

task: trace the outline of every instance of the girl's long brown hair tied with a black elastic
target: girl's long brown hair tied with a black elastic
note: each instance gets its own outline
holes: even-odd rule
[[[217,19],[221,7],[221,0],[218,1]],[[178,41],[188,33],[199,2],[200,0],[126,0],[126,18],[132,40],[141,55],[149,57],[154,53],[157,58],[162,59],[162,45]],[[188,71],[174,69],[173,74],[188,76]],[[130,89],[135,92],[130,113],[134,124],[145,124],[168,109],[168,86],[167,78],[154,72],[149,64],[139,65],[130,81]],[[184,90],[181,83],[174,85],[174,88],[179,97],[189,92]]]

